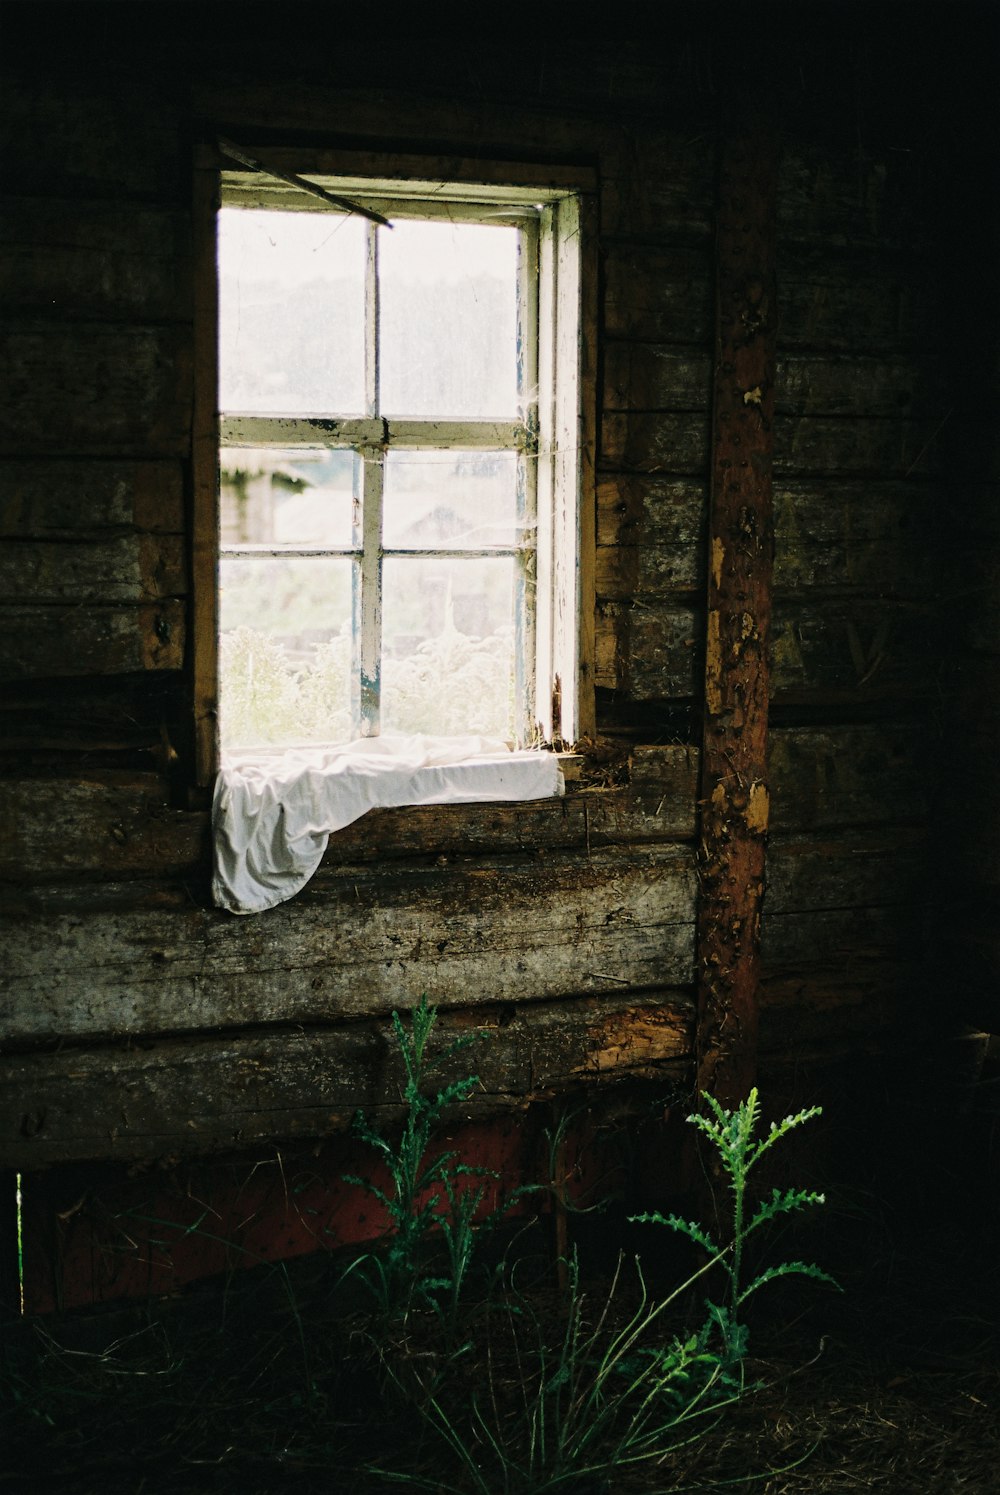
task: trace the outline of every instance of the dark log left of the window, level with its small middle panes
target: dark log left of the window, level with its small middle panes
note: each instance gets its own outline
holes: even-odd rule
[[[179,462],[0,462],[0,538],[184,534]]]

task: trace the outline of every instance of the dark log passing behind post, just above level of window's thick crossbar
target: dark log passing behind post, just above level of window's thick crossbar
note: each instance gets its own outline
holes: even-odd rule
[[[928,419],[942,405],[942,369],[933,357],[797,353],[777,360],[779,416]],[[607,410],[703,410],[712,398],[707,350],[661,342],[608,342],[604,359]]]

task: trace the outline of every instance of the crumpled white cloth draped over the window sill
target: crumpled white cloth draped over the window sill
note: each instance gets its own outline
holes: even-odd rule
[[[260,913],[309,881],[333,831],[366,810],[564,794],[555,753],[492,737],[363,737],[338,748],[259,749],[223,759],[212,804],[212,897]]]

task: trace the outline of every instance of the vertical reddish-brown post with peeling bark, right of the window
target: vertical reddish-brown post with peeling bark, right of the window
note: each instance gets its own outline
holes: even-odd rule
[[[768,824],[776,141],[722,147],[701,767],[697,1084],[723,1105],[756,1070]]]

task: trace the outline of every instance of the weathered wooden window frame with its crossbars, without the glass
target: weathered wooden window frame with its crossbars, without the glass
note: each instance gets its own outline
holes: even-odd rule
[[[520,650],[526,662],[525,718],[541,743],[564,748],[593,736],[593,449],[596,390],[595,348],[595,176],[586,167],[538,167],[502,161],[386,157],[347,151],[248,148],[263,172],[233,169],[218,150],[203,147],[194,173],[196,380],[193,431],[193,695],[196,782],[209,785],[218,768],[218,449],[269,444],[336,446],[359,453],[365,471],[362,525],[378,523],[384,451],[399,447],[454,446],[460,450],[516,450],[531,472],[520,501],[535,525],[535,541],[490,549],[484,555],[516,553],[526,592],[531,570],[537,605],[531,617],[534,647]],[[505,209],[531,223],[528,256],[522,256],[519,305],[537,323],[537,336],[523,342],[525,368],[519,384],[532,396],[513,422],[386,422],[375,414],[377,374],[368,359],[369,414],[357,420],[218,414],[218,281],[217,212],[223,205],[248,208],[323,208],[303,191],[268,172],[306,176],[363,208],[398,215],[475,220]],[[525,218],[525,209],[531,217]],[[507,220],[510,221],[510,220]],[[372,242],[372,241],[369,241]],[[537,257],[535,265],[529,263]],[[372,260],[374,256],[369,256]],[[537,300],[535,300],[537,287]],[[371,293],[371,281],[369,281]],[[369,318],[366,317],[366,321]],[[525,326],[519,329],[526,330]],[[375,498],[375,502],[369,502]],[[532,513],[534,510],[534,513]],[[359,712],[362,731],[377,730],[380,577],[378,537],[360,534],[345,555],[362,555],[368,570],[360,623]],[[341,552],[329,550],[330,555]],[[375,585],[372,585],[375,583]],[[534,676],[534,679],[532,679]],[[369,692],[366,697],[366,691]]]

